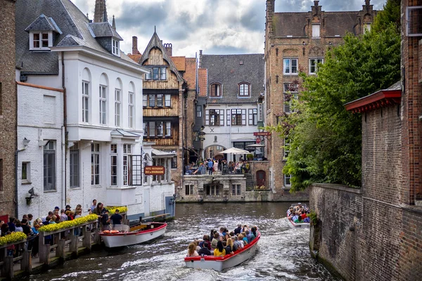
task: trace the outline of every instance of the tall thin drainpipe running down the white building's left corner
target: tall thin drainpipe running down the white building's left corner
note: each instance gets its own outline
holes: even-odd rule
[[[67,100],[66,100],[66,86],[65,86],[65,53],[61,52],[62,60],[62,87],[63,87],[63,126],[62,126],[62,207],[66,206],[66,197],[67,197],[67,186],[66,186],[66,174],[67,174],[67,165],[68,162],[68,110],[67,110]]]

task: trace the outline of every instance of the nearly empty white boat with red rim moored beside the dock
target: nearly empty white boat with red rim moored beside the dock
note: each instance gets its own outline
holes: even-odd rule
[[[122,247],[153,240],[165,234],[167,223],[141,223],[129,228],[126,225],[115,225],[113,230],[100,232],[106,247]]]

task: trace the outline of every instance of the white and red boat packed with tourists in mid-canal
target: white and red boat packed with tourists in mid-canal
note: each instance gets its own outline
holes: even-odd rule
[[[229,232],[222,227],[219,231],[211,230],[203,240],[195,240],[188,246],[184,258],[188,268],[207,268],[217,271],[237,266],[255,256],[261,233],[256,226],[248,228],[239,224]]]

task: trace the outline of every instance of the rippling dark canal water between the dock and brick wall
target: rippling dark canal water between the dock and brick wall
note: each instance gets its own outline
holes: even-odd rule
[[[337,280],[309,254],[309,229],[286,221],[288,203],[177,204],[165,236],[110,253],[94,251],[27,280]],[[185,268],[189,242],[238,223],[258,226],[256,256],[222,272]]]

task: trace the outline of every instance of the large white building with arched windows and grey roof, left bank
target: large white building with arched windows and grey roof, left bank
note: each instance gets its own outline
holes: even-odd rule
[[[25,162],[31,175],[30,185],[20,183],[18,201],[22,204],[30,187],[35,193],[19,215],[37,217],[66,204],[88,210],[94,199],[128,206],[129,218],[164,213],[169,206],[145,202],[158,195],[143,196],[141,100],[147,70],[120,51],[114,22],[91,22],[68,0],[34,2],[16,4],[17,76],[44,86],[34,98],[33,87],[18,89],[25,100],[18,110],[18,140],[31,140],[18,155],[18,177]],[[49,98],[54,95],[55,102]],[[168,202],[172,194],[164,194]]]

